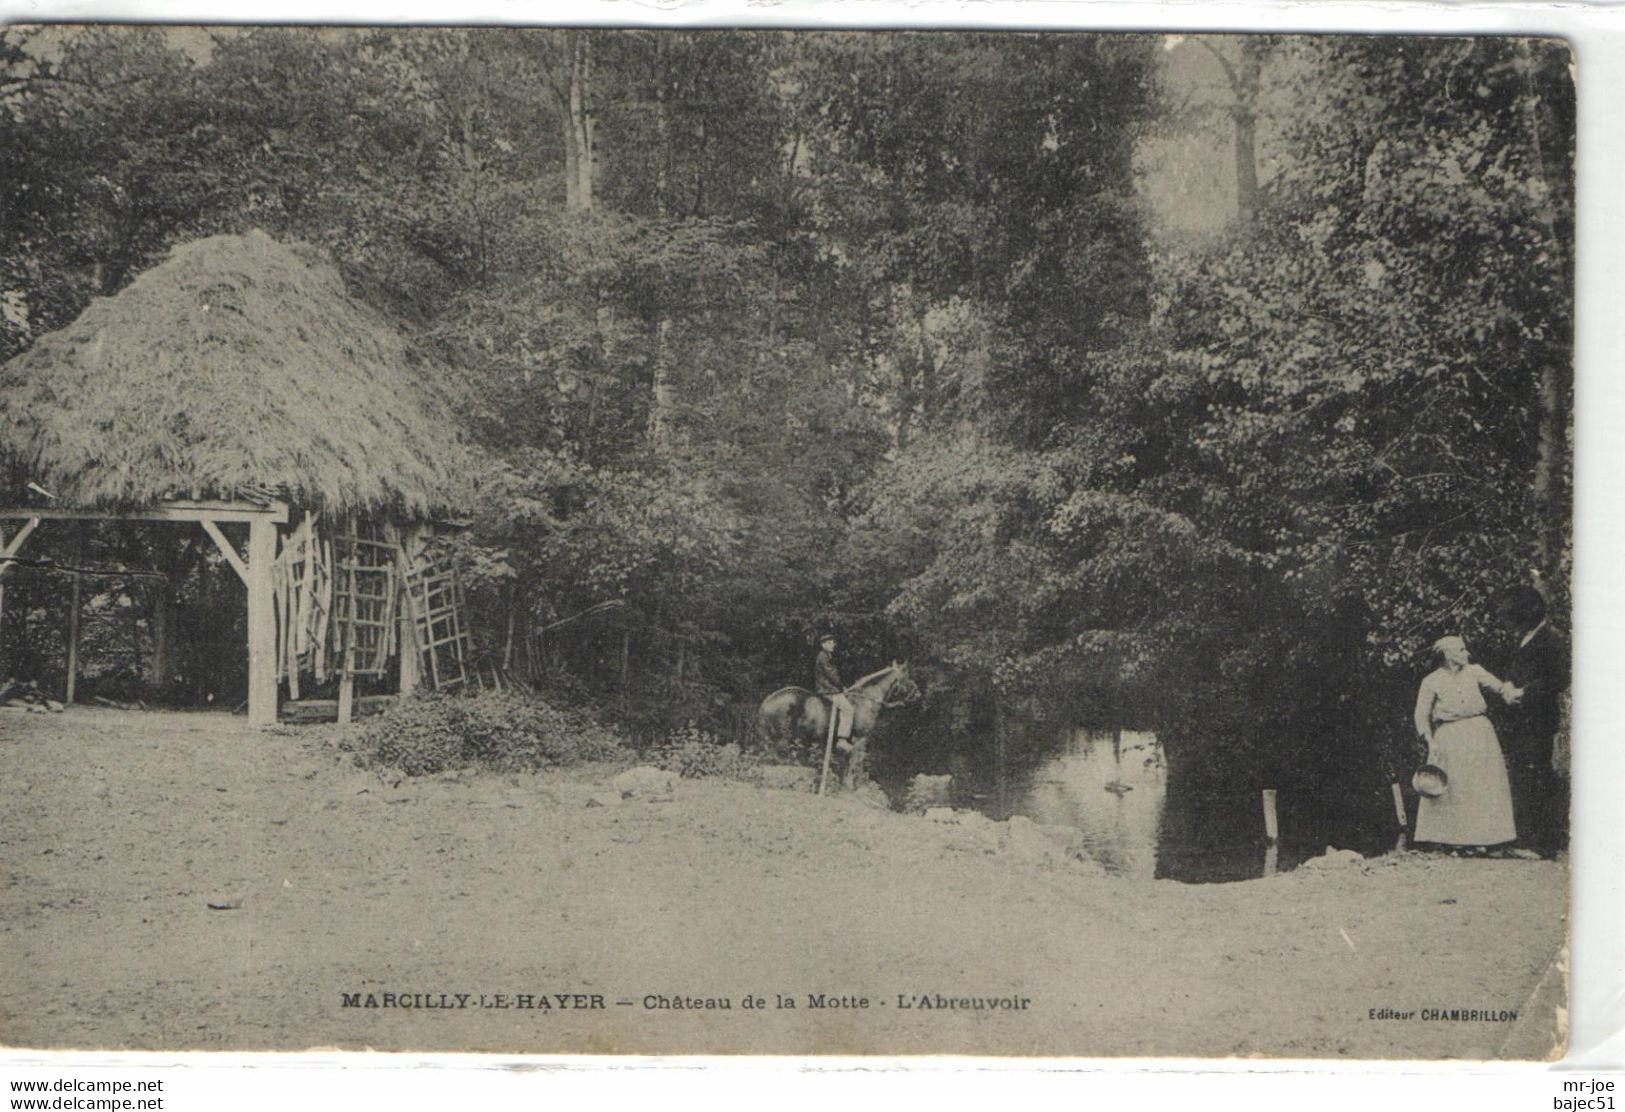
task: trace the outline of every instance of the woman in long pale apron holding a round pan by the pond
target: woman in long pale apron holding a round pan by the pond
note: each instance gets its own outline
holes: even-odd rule
[[[1518,837],[1518,827],[1506,759],[1485,717],[1484,693],[1516,706],[1523,691],[1472,663],[1461,637],[1440,637],[1433,650],[1440,667],[1424,676],[1417,691],[1415,727],[1427,741],[1428,764],[1445,769],[1450,787],[1436,798],[1422,797],[1415,841],[1503,845]]]

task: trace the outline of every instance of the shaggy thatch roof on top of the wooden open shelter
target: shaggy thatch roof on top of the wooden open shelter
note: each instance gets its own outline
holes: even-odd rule
[[[424,517],[465,460],[436,374],[309,249],[214,236],[0,367],[0,457],[63,506],[283,488]]]

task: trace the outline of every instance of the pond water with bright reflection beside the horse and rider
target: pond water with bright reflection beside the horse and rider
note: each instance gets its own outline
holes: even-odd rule
[[[1258,790],[1185,784],[1154,733],[1074,728],[1030,771],[998,780],[965,785],[965,801],[999,821],[1071,826],[1090,857],[1126,878],[1251,880],[1306,855],[1268,845]]]

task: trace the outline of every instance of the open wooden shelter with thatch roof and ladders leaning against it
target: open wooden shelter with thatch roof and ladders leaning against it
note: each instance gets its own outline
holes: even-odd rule
[[[462,668],[460,595],[416,563],[470,470],[437,385],[315,252],[263,232],[177,247],[0,366],[0,525],[24,522],[0,532],[0,582],[42,520],[193,522],[247,587],[250,722],[276,720],[281,675],[297,697],[304,660],[320,676],[341,652],[340,717],[392,654],[403,691],[422,654]],[[315,515],[346,532],[318,543]],[[249,527],[247,551],[223,525]]]

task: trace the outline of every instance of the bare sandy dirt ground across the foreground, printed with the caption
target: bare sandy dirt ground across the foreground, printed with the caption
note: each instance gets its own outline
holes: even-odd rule
[[[0,712],[0,1040],[1315,1058],[1562,1047],[1562,863],[1407,854],[1237,884],[1128,881],[853,798],[682,780],[668,801],[590,806],[616,771],[387,784],[353,767],[332,727]],[[817,993],[848,1006],[809,1006]],[[960,1006],[975,998],[993,1006]]]

